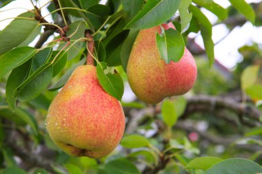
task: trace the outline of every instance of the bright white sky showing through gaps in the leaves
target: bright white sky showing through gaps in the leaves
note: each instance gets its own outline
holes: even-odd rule
[[[28,3],[25,3],[25,1],[28,1]],[[49,0],[40,0],[40,5],[47,3]],[[105,3],[106,0],[103,0],[102,2]],[[228,0],[214,0],[216,3],[219,3],[224,8],[227,8],[230,3]],[[248,3],[250,2],[261,2],[261,0],[246,0]],[[37,6],[39,6],[39,3],[37,3]],[[26,8],[26,9],[32,9],[32,3],[30,3],[30,0],[17,0],[13,1],[12,3],[8,4],[8,6],[5,6],[1,10],[8,10],[11,8]],[[26,12],[26,10],[23,9],[14,9],[14,10],[8,10],[6,12],[0,11],[0,30],[3,30],[3,28],[12,21],[6,20],[1,21],[6,18],[12,18],[17,17],[17,15],[21,14],[22,12]],[[208,19],[211,21],[211,23],[215,23],[217,20],[217,17],[209,12],[208,10],[203,10],[203,12],[207,15]],[[45,16],[48,14],[47,8],[42,9],[42,14]],[[45,18],[47,21],[52,21],[51,16],[48,16]],[[228,34],[228,29],[225,25],[216,25],[213,27],[213,33],[212,33],[212,39],[214,43],[219,42],[222,38],[224,38]],[[196,43],[198,43],[201,47],[203,47],[203,40],[201,38],[200,34],[190,34],[190,37],[195,37]],[[37,37],[38,39],[38,37]],[[34,45],[34,43],[37,42],[37,39],[35,39],[31,46]],[[49,41],[52,40],[52,37],[50,37]],[[262,28],[256,28],[254,27],[250,22],[245,23],[243,27],[241,28],[234,28],[234,30],[228,34],[228,36],[225,37],[222,41],[217,43],[214,47],[214,55],[215,58],[225,67],[233,68],[236,63],[241,61],[242,56],[239,54],[238,49],[239,47],[250,44],[252,45],[253,42],[259,43],[262,45]]]

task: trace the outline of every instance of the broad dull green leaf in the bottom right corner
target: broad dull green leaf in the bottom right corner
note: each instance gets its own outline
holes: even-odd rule
[[[250,160],[242,158],[232,158],[223,160],[222,162],[214,164],[204,174],[251,174],[251,173],[262,173],[262,168],[259,164]]]

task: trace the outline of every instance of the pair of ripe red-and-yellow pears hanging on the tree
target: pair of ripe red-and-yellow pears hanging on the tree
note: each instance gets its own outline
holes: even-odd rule
[[[165,30],[174,28],[163,24]],[[156,43],[161,26],[141,30],[128,61],[128,81],[134,94],[149,104],[163,98],[185,94],[196,80],[196,63],[185,48],[177,63],[165,63]],[[50,138],[63,151],[74,156],[100,158],[119,144],[125,116],[119,100],[106,93],[94,65],[77,67],[52,101],[46,128]]]

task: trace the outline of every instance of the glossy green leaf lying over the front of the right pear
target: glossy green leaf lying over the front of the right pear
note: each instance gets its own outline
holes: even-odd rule
[[[162,35],[157,33],[157,47],[165,63],[178,62],[185,51],[183,36],[172,28],[162,30]]]

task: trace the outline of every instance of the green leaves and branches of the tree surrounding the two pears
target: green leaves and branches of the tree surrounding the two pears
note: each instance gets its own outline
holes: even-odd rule
[[[241,47],[243,61],[231,71],[215,61],[212,41],[219,23],[230,31],[248,21],[260,26],[261,3],[230,0],[223,8],[212,0],[53,0],[46,6],[54,24],[42,18],[42,1],[35,4],[0,32],[1,173],[262,173],[261,45]],[[176,30],[156,34],[156,49],[169,63],[187,46],[197,59],[196,85],[154,106],[121,101],[137,33],[167,21]],[[55,32],[59,36],[46,42]],[[121,101],[127,120],[117,149],[99,160],[63,153],[45,129],[52,99],[90,55],[87,32],[99,83]],[[205,52],[190,42],[192,32],[201,34]]]

